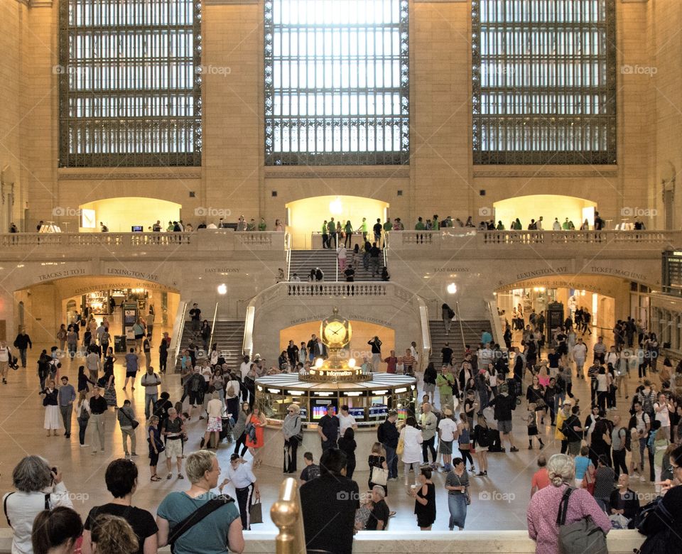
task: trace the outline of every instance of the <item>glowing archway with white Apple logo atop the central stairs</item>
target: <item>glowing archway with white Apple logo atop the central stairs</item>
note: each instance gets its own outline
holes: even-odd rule
[[[313,233],[319,233],[325,219],[331,217],[344,226],[350,221],[353,229],[359,229],[362,218],[367,218],[367,230],[381,219],[386,221],[389,204],[373,198],[359,196],[327,195],[295,200],[286,205],[287,230],[291,234],[293,248],[308,249],[312,246]],[[355,244],[353,239],[353,244]]]

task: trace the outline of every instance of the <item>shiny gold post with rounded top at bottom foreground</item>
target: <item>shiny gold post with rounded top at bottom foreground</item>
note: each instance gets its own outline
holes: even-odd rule
[[[303,514],[296,479],[287,477],[279,486],[278,499],[270,509],[270,517],[279,529],[275,538],[276,554],[305,553]]]

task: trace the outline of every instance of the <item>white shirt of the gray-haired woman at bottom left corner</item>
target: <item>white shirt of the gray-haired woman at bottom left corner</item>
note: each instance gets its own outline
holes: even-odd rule
[[[12,554],[31,554],[33,544],[31,543],[31,531],[33,531],[33,520],[39,512],[45,509],[45,494],[49,490],[21,492],[16,491],[7,498],[7,516],[12,523],[14,530],[12,538]],[[7,494],[4,498],[7,497]],[[3,499],[4,501],[4,499]],[[66,506],[72,508],[73,504],[69,498],[64,483],[55,484],[50,493],[50,508]]]

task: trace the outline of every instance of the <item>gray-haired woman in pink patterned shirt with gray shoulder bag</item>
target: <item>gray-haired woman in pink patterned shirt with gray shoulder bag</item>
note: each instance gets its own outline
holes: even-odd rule
[[[553,455],[547,464],[550,484],[536,492],[528,505],[528,535],[536,541],[536,554],[555,554],[559,550],[559,528],[556,518],[559,505],[567,489],[568,497],[565,524],[591,517],[604,533],[611,529],[609,517],[600,509],[597,501],[586,489],[571,487],[575,479],[573,458],[565,454]]]

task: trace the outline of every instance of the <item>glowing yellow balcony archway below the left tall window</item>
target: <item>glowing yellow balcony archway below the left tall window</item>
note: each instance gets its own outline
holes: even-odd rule
[[[118,197],[80,205],[80,232],[99,232],[103,222],[111,232],[151,231],[158,219],[166,229],[169,221],[180,219],[180,204],[145,197]],[[139,227],[139,229],[134,229]]]

